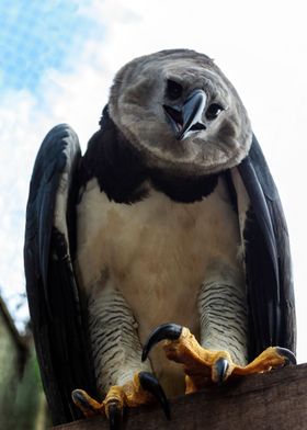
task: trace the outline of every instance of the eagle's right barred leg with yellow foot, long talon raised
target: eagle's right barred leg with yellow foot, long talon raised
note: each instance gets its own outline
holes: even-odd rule
[[[234,267],[212,264],[197,304],[201,343],[187,328],[167,324],[152,331],[143,350],[146,360],[154,344],[166,339],[168,359],[183,364],[186,393],[221,383],[230,375],[265,372],[295,362],[291,351],[272,347],[248,364],[245,281]]]

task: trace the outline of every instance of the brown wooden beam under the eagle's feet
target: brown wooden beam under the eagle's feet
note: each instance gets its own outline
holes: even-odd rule
[[[129,409],[123,430],[302,430],[307,428],[307,364],[231,381],[171,401],[168,421],[158,406]],[[104,417],[56,430],[109,430]]]

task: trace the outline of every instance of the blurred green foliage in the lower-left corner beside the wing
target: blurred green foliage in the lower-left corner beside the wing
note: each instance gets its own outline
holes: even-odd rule
[[[0,429],[44,430],[47,405],[33,339],[22,337],[0,308]]]

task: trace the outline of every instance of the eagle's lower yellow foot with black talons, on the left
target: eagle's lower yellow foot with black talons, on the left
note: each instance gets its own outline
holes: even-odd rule
[[[71,395],[75,404],[86,417],[98,414],[106,415],[111,430],[121,428],[124,407],[151,404],[155,398],[160,401],[167,418],[170,418],[166,394],[156,377],[149,372],[136,373],[133,381],[123,386],[112,386],[102,403],[93,399],[83,389],[75,389]]]

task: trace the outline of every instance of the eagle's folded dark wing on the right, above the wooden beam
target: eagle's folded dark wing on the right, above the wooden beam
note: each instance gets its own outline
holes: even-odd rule
[[[250,199],[243,226],[250,358],[271,344],[295,352],[288,233],[276,186],[254,136],[238,171]]]

